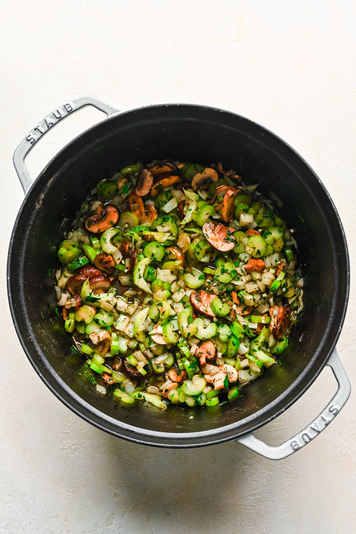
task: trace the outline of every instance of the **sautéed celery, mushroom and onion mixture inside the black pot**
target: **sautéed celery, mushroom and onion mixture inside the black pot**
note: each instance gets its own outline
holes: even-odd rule
[[[91,191],[55,289],[97,391],[214,406],[278,365],[303,279],[293,230],[256,187],[221,163],[154,161]]]

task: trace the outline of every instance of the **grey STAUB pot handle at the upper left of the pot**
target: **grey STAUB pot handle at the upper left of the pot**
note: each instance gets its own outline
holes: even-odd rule
[[[99,111],[106,113],[107,116],[118,112],[118,109],[105,104],[105,102],[102,102],[97,97],[85,95],[83,97],[69,100],[66,104],[59,106],[58,108],[54,109],[54,111],[46,115],[44,119],[29,132],[25,139],[22,139],[13,155],[13,164],[25,194],[27,193],[30,185],[34,182],[34,180],[30,178],[25,165],[25,158],[27,154],[30,152],[30,150],[32,150],[37,141],[51,129],[52,126],[55,126],[61,120],[66,119],[70,114],[75,113],[78,111],[78,109],[81,109],[85,106],[96,107],[99,109]]]

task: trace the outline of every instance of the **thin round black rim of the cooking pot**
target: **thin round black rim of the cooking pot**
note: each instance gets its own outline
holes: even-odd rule
[[[103,124],[107,124],[110,121],[117,120],[118,117],[125,116],[125,115],[131,114],[131,113],[141,112],[141,111],[144,111],[146,109],[154,110],[154,109],[157,109],[157,108],[167,108],[167,107],[170,107],[170,108],[186,107],[188,109],[201,109],[201,110],[207,110],[207,111],[211,111],[211,112],[218,112],[218,113],[221,113],[223,115],[229,115],[229,116],[235,117],[236,120],[242,120],[242,121],[246,121],[248,123],[253,123],[254,127],[257,128],[257,130],[262,131],[264,133],[264,135],[268,135],[268,136],[273,137],[280,144],[284,145],[284,147],[287,147],[289,149],[289,151],[291,153],[293,153],[294,156],[297,157],[299,162],[304,164],[306,169],[313,176],[314,180],[321,187],[323,193],[325,193],[326,198],[329,201],[329,205],[330,205],[330,207],[331,207],[331,209],[332,209],[332,211],[334,213],[334,216],[336,218],[336,221],[338,223],[339,231],[341,233],[340,237],[342,238],[342,242],[343,242],[343,245],[344,245],[344,254],[345,254],[345,262],[346,262],[345,298],[344,298],[344,303],[343,303],[343,307],[342,307],[342,314],[341,314],[341,318],[339,320],[337,333],[334,336],[333,341],[331,342],[330,349],[328,350],[327,354],[323,358],[322,363],[319,365],[319,368],[317,369],[317,371],[314,372],[314,374],[313,374],[313,376],[311,378],[307,379],[305,386],[302,389],[300,389],[300,391],[298,391],[292,399],[290,399],[285,404],[280,406],[278,410],[276,410],[274,413],[272,413],[269,417],[267,417],[263,421],[255,423],[255,425],[249,427],[246,430],[239,431],[238,433],[234,432],[236,426],[240,426],[242,423],[248,425],[249,421],[255,419],[256,415],[259,412],[263,412],[266,409],[271,410],[271,409],[273,409],[273,407],[278,406],[278,404],[280,404],[281,400],[288,395],[290,390],[297,386],[298,382],[300,382],[302,380],[305,380],[305,376],[308,373],[308,368],[312,366],[313,359],[305,367],[304,372],[302,374],[300,374],[298,376],[298,378],[289,386],[289,388],[287,388],[285,391],[283,391],[283,393],[279,397],[274,399],[270,404],[265,406],[263,409],[258,410],[254,414],[248,416],[247,418],[242,419],[241,421],[232,423],[231,425],[225,425],[225,426],[222,426],[222,427],[218,427],[218,428],[214,428],[214,429],[208,429],[208,430],[199,431],[199,432],[190,432],[190,433],[157,432],[155,430],[147,430],[147,429],[142,428],[142,427],[135,427],[133,425],[128,425],[128,424],[126,424],[126,423],[124,423],[124,422],[122,422],[120,420],[114,419],[114,418],[104,414],[103,412],[100,412],[99,410],[94,408],[91,404],[89,404],[88,402],[84,401],[72,389],[70,389],[69,386],[67,386],[67,384],[60,378],[60,376],[57,374],[57,372],[54,371],[53,367],[50,366],[48,364],[48,362],[45,360],[46,361],[46,371],[48,371],[48,373],[53,377],[53,379],[55,380],[56,384],[59,387],[58,390],[56,388],[54,388],[52,386],[52,384],[49,382],[48,378],[46,376],[44,376],[44,374],[39,370],[37,364],[34,362],[34,359],[31,357],[31,355],[29,353],[29,350],[27,349],[27,346],[25,344],[25,341],[22,339],[22,335],[20,333],[19,324],[18,324],[17,318],[15,316],[15,311],[14,311],[14,307],[13,307],[11,287],[10,287],[10,272],[11,272],[12,252],[13,252],[13,244],[14,244],[15,233],[17,231],[18,223],[19,223],[19,220],[21,218],[23,208],[25,207],[25,205],[27,203],[27,200],[30,197],[30,193],[31,193],[31,191],[33,191],[33,189],[36,186],[36,184],[38,184],[39,180],[41,180],[41,178],[44,178],[44,171],[45,170],[48,171],[49,167],[52,165],[52,163],[55,163],[57,158],[59,158],[60,155],[65,153],[67,148],[70,145],[74,144],[77,139],[83,138],[84,136],[89,135],[89,133],[93,133],[94,131],[99,130],[100,127]],[[67,143],[67,145],[65,145],[56,155],[53,156],[53,158],[51,159],[51,161],[48,164],[48,166],[46,166],[41,171],[41,173],[37,176],[37,178],[33,180],[33,183],[31,184],[31,186],[29,187],[28,191],[26,192],[25,199],[23,199],[23,202],[22,202],[21,207],[19,209],[19,213],[18,213],[18,215],[17,215],[17,217],[15,219],[15,223],[14,223],[14,226],[13,226],[11,239],[10,239],[9,254],[8,254],[8,257],[7,257],[7,293],[8,293],[8,298],[9,298],[9,305],[10,305],[10,311],[11,311],[12,320],[13,320],[13,323],[14,323],[14,326],[15,326],[16,333],[17,333],[18,338],[20,340],[20,343],[22,345],[22,348],[25,351],[25,354],[26,354],[27,358],[29,359],[29,362],[31,363],[31,365],[33,366],[34,370],[36,371],[38,376],[41,378],[41,380],[52,391],[52,393],[54,395],[56,395],[56,397],[63,404],[65,404],[70,410],[72,410],[76,415],[78,415],[79,417],[81,417],[85,421],[91,423],[91,425],[99,428],[100,430],[104,430],[108,434],[112,434],[112,435],[114,435],[116,437],[121,437],[122,439],[126,439],[126,440],[134,442],[134,443],[139,443],[139,444],[143,444],[143,445],[151,445],[151,446],[159,446],[159,447],[165,447],[165,448],[190,448],[190,447],[213,445],[213,444],[217,444],[217,443],[223,443],[225,441],[231,441],[232,439],[235,439],[235,438],[238,438],[240,436],[243,436],[243,435],[250,434],[250,433],[254,432],[258,428],[266,425],[268,422],[271,422],[273,419],[278,417],[282,412],[286,411],[294,402],[296,402],[296,400],[298,398],[300,398],[305,393],[305,391],[311,386],[311,384],[314,382],[314,380],[317,379],[317,377],[319,376],[319,374],[321,373],[321,371],[325,367],[329,356],[331,355],[331,353],[335,349],[335,345],[337,343],[338,337],[339,337],[339,335],[341,333],[341,330],[342,330],[342,327],[343,327],[343,324],[344,324],[344,319],[345,319],[345,314],[346,314],[346,309],[347,309],[347,302],[349,300],[349,292],[350,292],[350,261],[349,261],[349,253],[348,253],[348,249],[347,249],[347,242],[346,242],[345,232],[344,232],[344,229],[343,229],[341,218],[339,217],[339,214],[338,214],[337,209],[336,209],[336,207],[334,205],[334,202],[331,199],[328,191],[326,190],[326,187],[323,185],[323,183],[321,182],[321,180],[318,177],[318,175],[314,172],[314,170],[305,161],[305,159],[293,147],[291,147],[286,141],[284,141],[281,137],[276,135],[274,132],[272,132],[271,130],[265,128],[263,125],[255,122],[255,121],[251,121],[250,119],[248,119],[247,117],[244,117],[243,115],[239,115],[237,113],[234,113],[234,112],[231,112],[231,111],[228,111],[228,110],[225,110],[225,109],[212,107],[212,106],[199,105],[199,104],[177,104],[177,103],[173,103],[173,104],[156,104],[156,105],[152,105],[152,106],[142,106],[142,107],[138,107],[138,108],[128,109],[128,110],[125,110],[125,111],[122,111],[122,112],[117,112],[117,113],[114,113],[113,115],[108,116],[106,119],[94,124],[92,127],[86,129],[85,131],[81,132],[78,136],[76,136],[74,139],[70,140],[70,142]],[[37,351],[37,349],[36,349],[36,351]],[[76,406],[74,406],[73,404],[71,404],[69,402],[69,400],[64,398],[63,394],[66,394],[69,397],[69,399],[72,400],[73,404],[75,403],[78,406],[78,408]],[[80,409],[82,409],[83,411],[80,411]],[[86,412],[86,413],[84,413],[84,412]],[[87,415],[87,413],[88,413],[88,415]],[[116,429],[112,430],[112,429],[104,426],[103,423],[100,423],[99,421],[94,420],[93,418],[90,417],[90,415],[92,415],[92,417],[93,416],[96,417],[98,420],[100,420],[100,419],[102,420],[105,417],[105,422],[112,423],[112,425],[117,427],[117,430]],[[124,430],[125,433],[121,433],[121,430]],[[130,434],[136,435],[138,437],[133,437]],[[202,438],[206,438],[206,437],[208,438],[207,441],[203,441],[203,442],[199,442],[199,443],[194,442],[194,439],[202,439]],[[149,439],[149,438],[151,438],[151,439]],[[152,441],[152,439],[154,439],[154,438],[156,438],[156,441]],[[169,440],[172,441],[173,439],[175,440],[175,443],[170,443]]]

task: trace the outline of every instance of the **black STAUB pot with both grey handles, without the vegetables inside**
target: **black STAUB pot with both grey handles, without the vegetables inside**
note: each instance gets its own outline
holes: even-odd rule
[[[88,105],[105,112],[107,119],[70,142],[31,180],[24,163],[31,148],[52,125]],[[292,329],[281,367],[273,366],[249,384],[235,402],[194,411],[171,405],[157,413],[142,404],[124,407],[82,379],[78,371],[83,359],[70,351],[72,337],[48,305],[57,305],[48,269],[58,266],[60,224],[64,217],[73,218],[99,179],[132,161],[164,158],[221,161],[250,183],[259,183],[267,196],[271,190],[278,193],[281,215],[295,229],[306,285],[304,315]],[[26,198],[14,225],[7,265],[12,318],[36,372],[76,414],[136,443],[191,447],[235,439],[280,459],[311,441],[341,410],[350,394],[335,351],[349,294],[345,235],[320,179],[280,138],[221,109],[169,104],[119,113],[95,97],[82,97],[55,109],[23,139],[14,166]],[[254,430],[294,403],[325,365],[333,369],[338,390],[318,417],[278,447],[255,438]]]

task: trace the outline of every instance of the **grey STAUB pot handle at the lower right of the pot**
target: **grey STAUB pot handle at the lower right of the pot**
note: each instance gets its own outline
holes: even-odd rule
[[[330,400],[326,408],[316,417],[310,425],[305,427],[302,431],[298,432],[294,437],[288,439],[281,445],[271,447],[260,439],[254,436],[254,433],[241,436],[234,441],[241,443],[248,447],[252,451],[261,454],[265,458],[270,460],[281,460],[287,458],[290,454],[298,451],[304,445],[312,441],[314,437],[318,436],[325,427],[334,419],[335,415],[342,409],[346,400],[350,396],[351,386],[350,381],[347,378],[343,364],[336,352],[336,349],[328,359],[327,365],[333,370],[334,376],[338,383],[337,391],[334,397]]]

